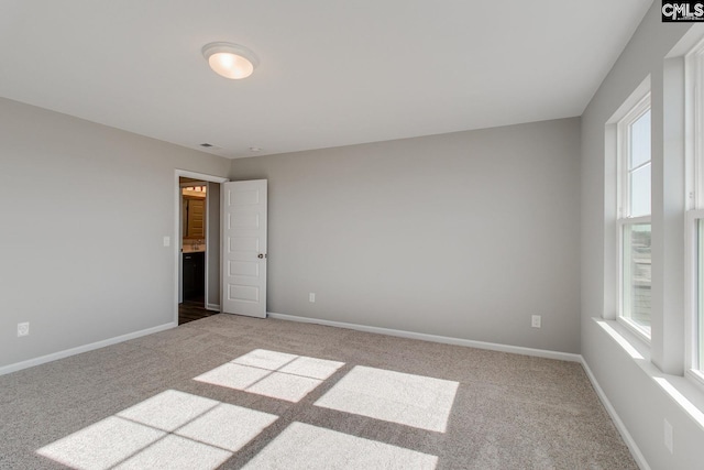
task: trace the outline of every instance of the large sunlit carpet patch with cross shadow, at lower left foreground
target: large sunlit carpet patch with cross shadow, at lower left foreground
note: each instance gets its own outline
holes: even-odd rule
[[[168,390],[37,450],[74,469],[213,469],[277,416]]]

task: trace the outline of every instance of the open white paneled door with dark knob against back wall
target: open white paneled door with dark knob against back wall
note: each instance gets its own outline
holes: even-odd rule
[[[222,184],[222,311],[266,317],[266,179]]]

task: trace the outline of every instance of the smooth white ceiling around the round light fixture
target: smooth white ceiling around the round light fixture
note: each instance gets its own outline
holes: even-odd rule
[[[651,2],[0,0],[0,96],[227,157],[573,117]]]

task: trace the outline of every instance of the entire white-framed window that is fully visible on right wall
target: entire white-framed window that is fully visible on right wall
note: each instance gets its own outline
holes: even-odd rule
[[[650,95],[618,122],[618,317],[650,338]]]

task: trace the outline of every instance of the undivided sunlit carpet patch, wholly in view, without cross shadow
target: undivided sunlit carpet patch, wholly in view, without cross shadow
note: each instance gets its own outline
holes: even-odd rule
[[[444,433],[459,383],[356,365],[317,406]]]

